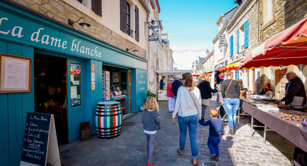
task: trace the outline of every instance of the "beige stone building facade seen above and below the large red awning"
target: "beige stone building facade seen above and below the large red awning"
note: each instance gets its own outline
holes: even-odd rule
[[[307,17],[307,1],[305,0],[261,0],[259,4],[260,44]],[[269,7],[271,9],[268,9]],[[265,83],[270,82],[271,87],[275,88],[275,98],[282,99],[285,95],[285,85],[288,82],[285,78],[287,71],[294,71],[304,84],[307,83],[305,65],[265,67],[261,69],[261,88],[264,88]],[[306,87],[305,90],[307,91]]]

